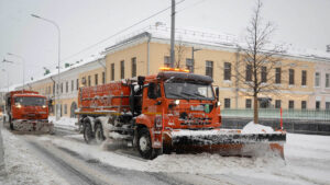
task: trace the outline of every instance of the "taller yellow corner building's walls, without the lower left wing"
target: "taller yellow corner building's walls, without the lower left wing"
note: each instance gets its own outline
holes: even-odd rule
[[[177,41],[175,50],[176,61],[179,63],[175,66],[188,68],[195,73],[211,76],[215,85],[220,88],[222,107],[251,108],[253,101],[244,93],[248,91],[246,85],[237,83],[233,77],[224,79],[226,63],[231,66],[230,73],[235,74],[235,61],[241,55],[239,48],[229,43],[208,44],[207,39],[210,38],[205,37],[201,42],[185,38]],[[191,62],[193,49],[196,48],[198,51],[194,53]],[[278,90],[276,93],[261,93],[260,106],[312,108],[308,100],[314,92],[315,61],[299,56],[280,57],[283,58],[278,63],[282,70],[280,82],[276,85]],[[169,65],[169,39],[148,32],[141,33],[107,48],[106,62],[109,71],[107,81],[157,73],[161,67]],[[275,73],[274,69],[268,76]]]

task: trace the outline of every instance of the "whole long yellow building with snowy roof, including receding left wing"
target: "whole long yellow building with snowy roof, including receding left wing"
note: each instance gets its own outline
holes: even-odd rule
[[[81,86],[94,86],[113,80],[155,74],[161,67],[168,66],[169,30],[163,31],[155,27],[150,32],[141,32],[106,48],[103,56],[98,59],[75,63],[63,70],[61,83],[56,85],[59,93],[57,111],[61,112],[61,115],[75,116],[78,89]],[[176,35],[178,37],[175,48],[176,67],[188,68],[194,73],[211,76],[215,80],[213,84],[220,89],[222,108],[253,107],[252,97],[246,96],[249,81],[238,82],[234,78],[239,71],[242,71],[239,70],[242,67],[237,65],[242,51],[234,41],[223,39],[221,35],[183,30],[178,30]],[[278,69],[267,73],[267,76],[275,77],[274,81],[263,84],[276,83],[275,86],[278,90],[275,93],[262,92],[260,106],[315,108],[314,83],[316,63],[319,59],[297,55],[278,57],[282,58],[276,66]],[[54,103],[55,82],[57,82],[57,74],[50,74],[41,80],[30,82],[28,85],[46,95]]]

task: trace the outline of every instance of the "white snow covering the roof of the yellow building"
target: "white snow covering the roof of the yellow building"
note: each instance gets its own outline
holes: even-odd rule
[[[139,35],[143,36],[143,33],[150,33],[153,38],[169,39],[170,27],[166,27],[164,25],[147,26],[121,37],[117,41],[116,45],[123,44],[125,43],[125,41],[131,41],[132,38]],[[244,41],[244,38],[240,38],[239,36],[235,36],[233,34],[215,32],[209,28],[176,28],[175,37],[177,42],[182,41],[194,44],[205,44],[209,46],[222,46],[229,48],[238,48],[239,46],[244,48],[246,46],[246,42]],[[274,48],[275,45],[282,46],[285,49],[284,54],[288,56],[322,59],[330,61],[330,53],[317,49],[299,48],[297,46],[294,46],[293,44],[273,43],[270,46],[267,46],[267,48]]]

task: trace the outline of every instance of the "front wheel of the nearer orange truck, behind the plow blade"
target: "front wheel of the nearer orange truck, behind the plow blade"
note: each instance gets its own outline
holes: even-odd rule
[[[155,159],[161,149],[153,149],[151,136],[147,128],[142,128],[138,132],[138,150],[142,158],[147,160]]]

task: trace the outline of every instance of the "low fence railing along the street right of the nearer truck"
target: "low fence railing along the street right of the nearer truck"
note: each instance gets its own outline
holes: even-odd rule
[[[283,119],[308,119],[308,120],[320,120],[330,123],[330,111],[326,109],[282,109]],[[253,108],[251,109],[221,109],[223,117],[253,117]],[[279,108],[260,108],[260,118],[280,118]]]

